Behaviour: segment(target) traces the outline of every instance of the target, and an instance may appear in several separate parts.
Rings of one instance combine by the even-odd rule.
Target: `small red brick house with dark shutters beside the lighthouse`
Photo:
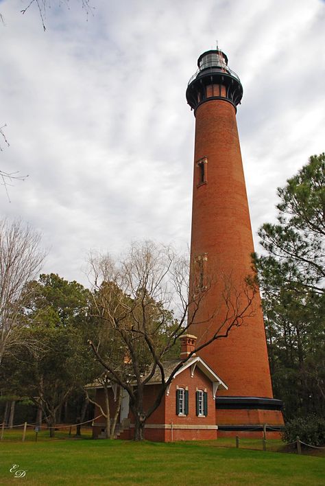
[[[193,349],[195,336],[182,336],[181,356],[184,358]],[[166,380],[182,359],[169,360],[164,363]],[[159,389],[159,371],[145,386],[145,402],[153,402]],[[104,390],[101,385],[93,384],[96,389],[96,402],[104,408]],[[217,439],[215,420],[215,395],[218,389],[227,390],[226,384],[208,367],[199,356],[190,358],[176,373],[165,391],[163,400],[154,413],[147,419],[144,437],[149,441],[180,441]],[[110,417],[115,413],[117,388],[109,390]],[[145,407],[147,408],[147,407]],[[95,417],[100,415],[95,408]],[[103,417],[93,422],[93,437],[105,435]],[[115,432],[119,439],[133,439],[134,417],[129,407],[129,395],[124,393],[119,413],[118,426]]]

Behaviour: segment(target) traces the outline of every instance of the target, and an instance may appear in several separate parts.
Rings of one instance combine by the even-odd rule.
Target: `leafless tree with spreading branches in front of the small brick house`
[[[159,406],[174,375],[193,354],[216,339],[226,338],[233,327],[254,314],[252,301],[256,293],[254,277],[235,288],[231,277],[202,277],[200,262],[197,277],[189,287],[189,265],[170,248],[153,242],[132,244],[130,252],[115,263],[106,256],[91,257],[93,285],[96,294],[97,317],[106,323],[111,338],[128,356],[128,373],[120,372],[116,361],[101,354],[89,341],[91,349],[110,373],[112,379],[130,395],[130,408],[135,419],[135,439],[143,439],[145,421]],[[213,312],[204,315],[199,310],[208,298],[210,289],[221,280],[223,291]],[[106,291],[100,292],[105,286]],[[201,317],[200,317],[201,316]],[[192,324],[211,323],[205,340],[178,360],[173,371],[165,376],[164,361],[186,334]],[[145,404],[145,385],[157,372],[160,387],[150,404]]]

